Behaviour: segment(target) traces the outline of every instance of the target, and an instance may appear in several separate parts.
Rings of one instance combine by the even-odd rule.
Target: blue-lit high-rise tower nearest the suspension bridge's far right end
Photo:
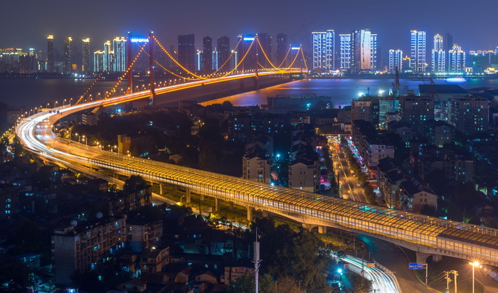
[[[334,30],[313,32],[313,70],[334,70]]]

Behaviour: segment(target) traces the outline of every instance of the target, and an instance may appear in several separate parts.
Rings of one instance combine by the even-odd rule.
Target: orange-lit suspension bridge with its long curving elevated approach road
[[[164,50],[164,47],[152,33],[149,36],[150,43],[157,43],[157,46]],[[154,105],[155,97],[166,92],[176,92],[243,78],[258,80],[260,76],[264,75],[300,75],[307,70],[301,48],[295,54],[290,65],[286,68],[280,68],[282,64],[278,67],[273,65],[263,48],[260,48],[258,38],[255,37],[248,49],[245,50],[243,58],[228,71],[221,73],[218,70],[210,75],[198,75],[184,68],[173,58],[172,60],[184,73],[179,75],[171,71],[170,74],[181,76],[181,82],[155,87],[153,66],[158,63],[152,59],[152,53],[150,53],[152,46],[149,45],[149,53],[145,53],[145,46],[141,46],[138,55],[143,53],[149,57],[150,75],[147,90],[133,91],[133,78],[130,72],[138,60],[138,57],[135,56],[129,63],[127,72],[102,99],[85,98],[88,97],[89,89],[73,105],[42,110],[19,119],[16,125],[16,135],[23,148],[46,161],[53,161],[70,168],[105,170],[112,174],[125,176],[139,175],[151,183],[159,184],[159,186],[176,186],[186,191],[186,201],[191,200],[191,193],[196,193],[201,196],[201,200],[205,196],[215,198],[216,208],[219,208],[220,201],[245,206],[248,211],[248,219],[251,219],[253,211],[258,209],[263,213],[277,213],[292,218],[307,228],[318,227],[320,232],[324,232],[327,227],[334,227],[371,235],[414,250],[417,252],[417,262],[425,262],[425,259],[430,255],[433,256],[434,260],[440,259],[442,255],[448,255],[472,261],[479,260],[481,263],[498,266],[497,229],[395,211],[366,203],[322,196],[317,193],[270,186],[233,176],[133,158],[102,151],[85,144],[75,142],[68,144],[65,139],[55,136],[52,129],[59,119],[82,110],[147,99],[151,105]],[[270,68],[263,68],[261,65],[258,60],[258,48],[268,64],[271,65]],[[167,51],[164,50],[164,52]],[[301,56],[301,61],[297,61],[298,55]],[[253,70],[241,69],[245,58],[253,58],[252,62],[255,65]],[[297,62],[300,63],[300,66],[296,68]],[[240,70],[238,70],[239,67]],[[126,75],[129,77],[127,92],[124,95],[116,95],[117,86],[125,80],[124,76]]]

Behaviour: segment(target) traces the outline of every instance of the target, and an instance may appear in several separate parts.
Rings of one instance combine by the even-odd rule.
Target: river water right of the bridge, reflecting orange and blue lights
[[[245,92],[240,95],[232,95],[208,102],[201,105],[221,104],[224,101],[230,101],[234,106],[252,106],[266,105],[267,97],[276,95],[304,96],[317,95],[332,97],[335,106],[351,105],[351,100],[359,97],[360,94],[378,95],[383,91],[383,95],[388,94],[394,80],[362,80],[362,79],[309,79],[288,82],[282,85],[267,87],[262,90]],[[429,81],[425,80],[425,84]],[[436,84],[450,84],[445,80],[435,80]],[[400,80],[401,92],[414,90],[418,92],[418,85],[424,84],[421,80]],[[459,83],[461,87],[470,89],[474,87],[498,87],[497,80],[467,80],[465,83]]]

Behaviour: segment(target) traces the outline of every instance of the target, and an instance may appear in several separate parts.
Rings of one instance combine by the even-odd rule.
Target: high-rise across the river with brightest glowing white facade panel
[[[353,31],[351,33],[351,71],[357,73],[363,70],[373,70],[373,63],[376,63],[376,47],[377,35],[372,35],[370,30]]]

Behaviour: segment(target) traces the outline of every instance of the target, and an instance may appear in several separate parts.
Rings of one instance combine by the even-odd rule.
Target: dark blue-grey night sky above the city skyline
[[[115,36],[147,36],[154,31],[166,48],[177,36],[228,36],[231,46],[240,33],[287,33],[292,45],[309,49],[312,31],[350,33],[370,28],[383,52],[401,48],[409,55],[410,30],[427,31],[428,50],[435,33],[451,33],[463,50],[494,50],[498,46],[496,0],[19,0],[2,1],[0,48],[46,50],[46,36],[90,38],[92,50]],[[336,41],[336,46],[339,42]]]

